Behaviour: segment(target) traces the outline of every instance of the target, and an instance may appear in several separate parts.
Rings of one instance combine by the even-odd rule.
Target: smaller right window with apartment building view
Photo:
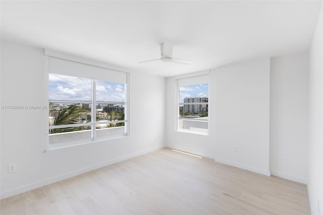
[[[177,80],[177,131],[208,134],[208,75]]]

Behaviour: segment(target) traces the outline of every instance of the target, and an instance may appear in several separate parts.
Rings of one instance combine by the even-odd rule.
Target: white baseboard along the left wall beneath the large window
[[[20,194],[20,193],[23,193],[23,192],[26,192],[26,191],[29,191],[29,190],[33,190],[33,189],[48,185],[48,184],[52,184],[52,183],[55,183],[55,182],[58,182],[58,181],[62,181],[64,179],[68,179],[68,178],[71,178],[73,176],[77,176],[77,175],[80,175],[80,174],[83,174],[83,173],[86,173],[86,172],[89,172],[89,171],[92,171],[92,170],[96,170],[98,168],[105,167],[107,165],[112,165],[112,164],[121,162],[123,160],[130,159],[132,157],[136,157],[136,156],[139,156],[139,155],[151,152],[151,151],[155,151],[155,150],[158,150],[158,149],[161,149],[161,148],[165,148],[165,145],[156,146],[156,147],[149,148],[149,149],[146,149],[146,150],[138,151],[138,152],[135,152],[135,153],[132,153],[132,154],[121,156],[121,157],[114,158],[114,159],[111,159],[111,160],[107,160],[106,162],[96,164],[96,165],[93,165],[93,166],[90,166],[90,167],[82,168],[82,169],[72,171],[72,172],[69,172],[69,173],[66,173],[66,174],[62,174],[62,175],[55,176],[55,177],[52,177],[52,178],[48,178],[48,179],[45,179],[45,180],[42,180],[42,181],[38,181],[38,182],[35,182],[35,183],[31,183],[31,184],[28,184],[28,185],[17,187],[17,188],[12,189],[12,190],[4,191],[4,192],[0,193],[0,199],[8,198],[10,196],[14,196],[14,195],[17,195],[17,194]]]

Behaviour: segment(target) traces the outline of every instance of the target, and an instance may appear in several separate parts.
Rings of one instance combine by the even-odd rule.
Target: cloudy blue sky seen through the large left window
[[[49,73],[49,100],[91,101],[91,80]],[[96,101],[125,101],[125,84],[97,80]]]

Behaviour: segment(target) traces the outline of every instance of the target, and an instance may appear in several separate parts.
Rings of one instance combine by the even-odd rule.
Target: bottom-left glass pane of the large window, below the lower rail
[[[91,126],[49,129],[49,144],[90,138]]]

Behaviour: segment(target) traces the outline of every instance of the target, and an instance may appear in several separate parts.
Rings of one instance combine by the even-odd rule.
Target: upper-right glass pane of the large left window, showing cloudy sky
[[[109,81],[96,81],[97,101],[126,101],[125,84]]]

